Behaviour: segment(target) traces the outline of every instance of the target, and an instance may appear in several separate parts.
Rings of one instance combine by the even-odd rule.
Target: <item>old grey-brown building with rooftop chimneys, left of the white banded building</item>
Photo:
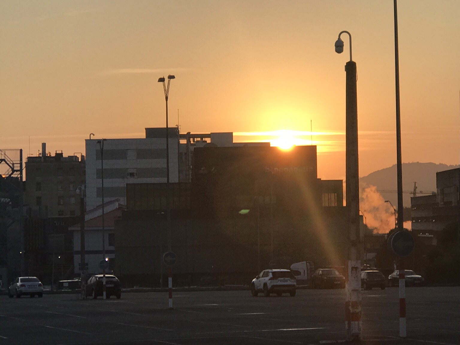
[[[37,157],[27,157],[24,207],[32,218],[74,217],[80,214],[76,190],[85,184],[85,156],[64,157],[46,153],[46,144]]]

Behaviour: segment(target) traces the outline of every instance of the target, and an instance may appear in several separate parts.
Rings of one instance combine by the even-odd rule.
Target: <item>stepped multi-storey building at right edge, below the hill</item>
[[[426,243],[436,244],[437,233],[459,221],[459,185],[458,168],[441,171],[436,173],[436,194],[411,198],[412,231]]]

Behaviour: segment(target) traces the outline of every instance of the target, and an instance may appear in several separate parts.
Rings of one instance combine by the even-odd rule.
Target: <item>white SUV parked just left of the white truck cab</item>
[[[259,292],[264,293],[265,297],[270,293],[276,293],[277,296],[289,293],[294,297],[295,287],[295,276],[290,270],[263,270],[251,282],[251,293],[254,297]]]

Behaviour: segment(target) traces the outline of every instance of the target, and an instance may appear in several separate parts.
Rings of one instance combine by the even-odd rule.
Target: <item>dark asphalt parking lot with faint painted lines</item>
[[[344,290],[296,297],[249,291],[0,296],[0,344],[326,344],[345,339]],[[408,288],[407,339],[399,334],[398,289],[363,291],[362,337],[369,344],[460,344],[460,288]]]

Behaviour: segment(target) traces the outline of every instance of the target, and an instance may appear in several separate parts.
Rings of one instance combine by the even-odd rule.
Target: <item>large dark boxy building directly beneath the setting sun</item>
[[[166,184],[127,184],[127,211],[115,221],[115,273],[127,284],[158,286],[166,274],[166,200]],[[304,260],[345,263],[342,181],[317,178],[316,146],[195,148],[191,183],[171,184],[168,200],[179,285],[247,283]]]

